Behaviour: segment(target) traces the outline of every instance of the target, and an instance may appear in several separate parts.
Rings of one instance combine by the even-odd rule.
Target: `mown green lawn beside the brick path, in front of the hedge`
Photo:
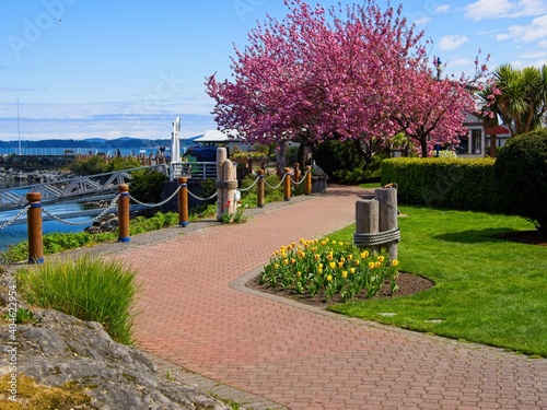
[[[349,316],[547,356],[547,248],[496,238],[516,216],[399,207],[400,270],[435,282],[412,296],[330,307]],[[329,235],[347,241],[354,226]],[[392,313],[395,316],[382,316]]]

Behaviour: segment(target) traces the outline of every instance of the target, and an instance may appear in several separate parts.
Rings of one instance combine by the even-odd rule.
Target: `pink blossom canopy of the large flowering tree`
[[[283,21],[269,17],[235,49],[233,81],[208,79],[219,128],[259,143],[354,140],[363,154],[400,131],[422,155],[433,138],[455,142],[470,99],[464,85],[434,81],[423,33],[407,24],[401,7],[286,5]]]

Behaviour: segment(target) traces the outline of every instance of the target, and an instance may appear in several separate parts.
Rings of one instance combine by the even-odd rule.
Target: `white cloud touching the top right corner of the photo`
[[[478,0],[465,7],[465,16],[475,22],[485,19],[515,19],[540,15],[546,9],[546,0]]]

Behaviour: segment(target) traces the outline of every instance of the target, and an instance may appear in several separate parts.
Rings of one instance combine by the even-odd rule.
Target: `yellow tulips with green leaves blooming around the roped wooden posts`
[[[342,302],[361,296],[371,298],[388,281],[397,290],[398,260],[334,242],[300,239],[274,251],[259,277],[260,284],[303,296],[339,295]]]

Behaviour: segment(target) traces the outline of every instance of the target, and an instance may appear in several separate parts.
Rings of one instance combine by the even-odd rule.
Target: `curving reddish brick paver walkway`
[[[290,409],[547,409],[547,360],[242,291],[280,245],[351,223],[357,192],[120,254],[142,283],[139,347]]]

